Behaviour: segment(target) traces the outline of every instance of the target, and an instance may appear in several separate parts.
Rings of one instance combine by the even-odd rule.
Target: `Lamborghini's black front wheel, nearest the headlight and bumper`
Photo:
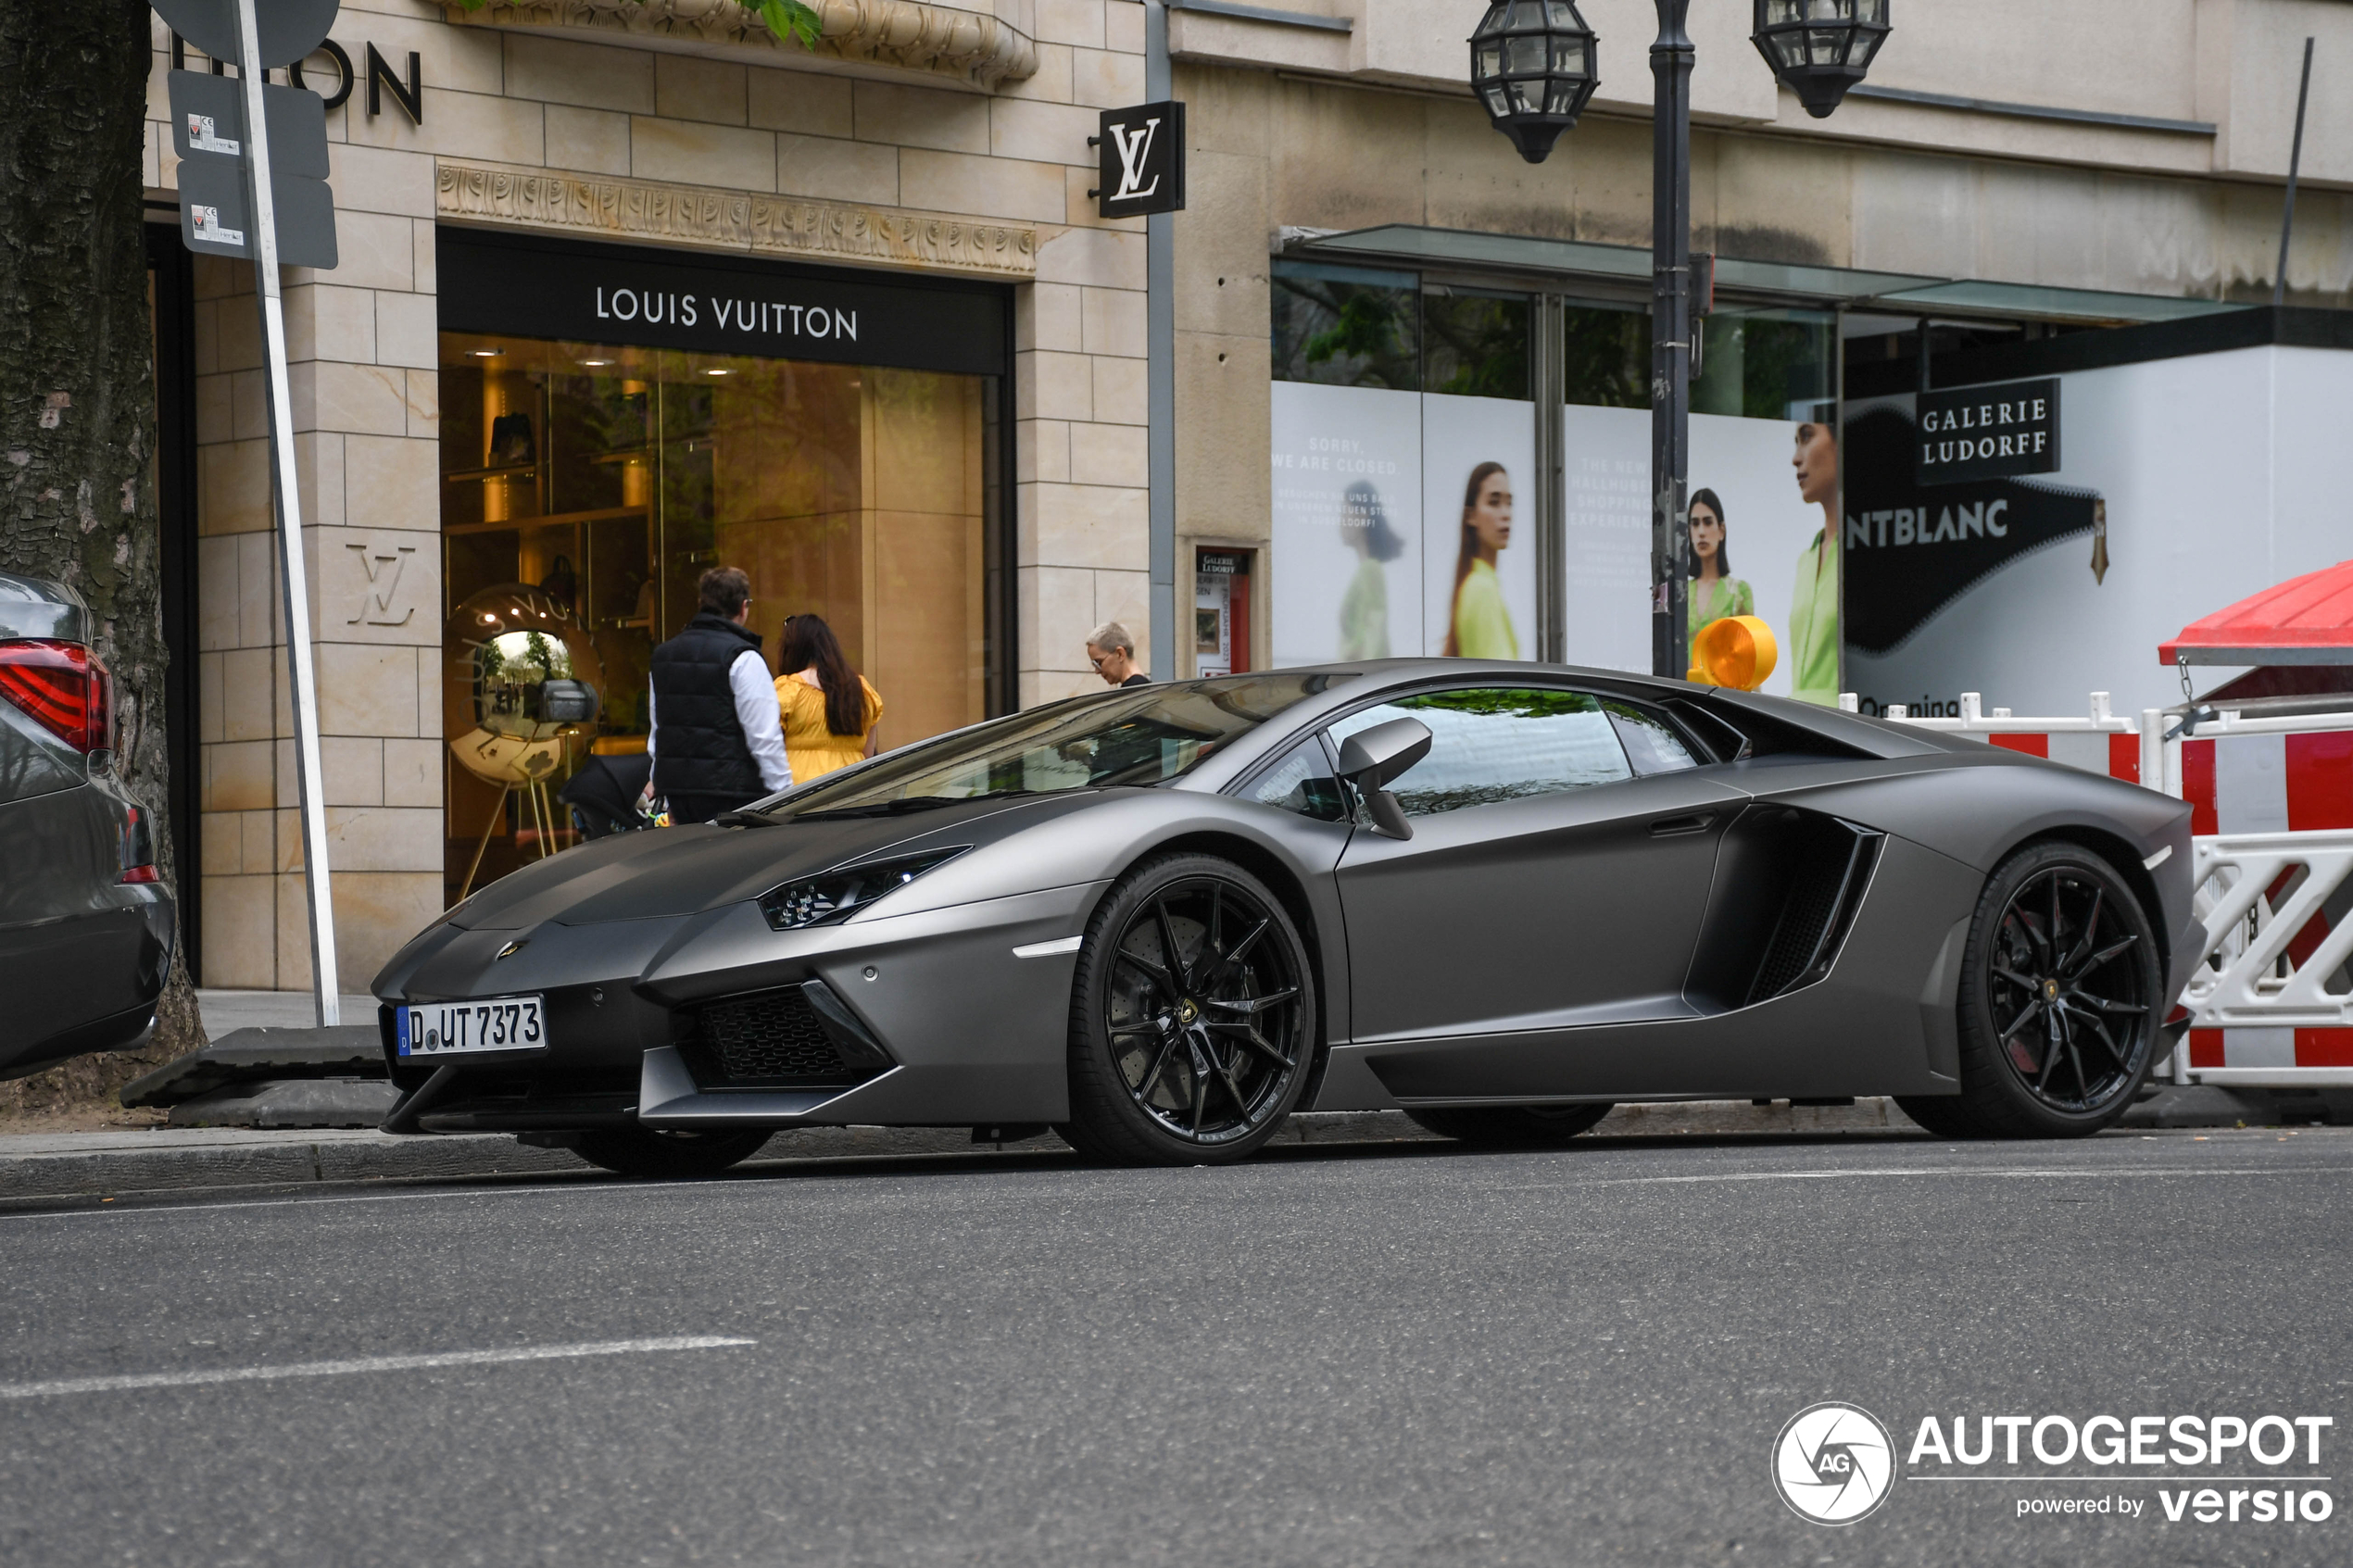
[[[1167,856],[1104,896],[1071,994],[1071,1126],[1120,1164],[1252,1154],[1297,1105],[1315,1044],[1306,945],[1264,882]]]

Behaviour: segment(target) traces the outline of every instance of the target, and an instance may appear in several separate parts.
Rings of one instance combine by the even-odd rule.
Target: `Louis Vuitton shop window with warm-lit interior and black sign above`
[[[885,698],[885,748],[1009,703],[1009,327],[988,284],[440,235],[452,900],[572,842],[511,783],[645,750],[647,656],[708,567],[751,574],[769,661],[786,616],[824,616]],[[473,689],[485,616],[518,602],[569,630],[600,698],[536,778]]]

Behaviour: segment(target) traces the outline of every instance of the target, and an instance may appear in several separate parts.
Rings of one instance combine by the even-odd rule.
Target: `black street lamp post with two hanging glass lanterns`
[[[1649,197],[1649,663],[1682,677],[1692,541],[1685,524],[1692,437],[1692,0],[1654,0]],[[1753,0],[1751,40],[1772,73],[1824,120],[1887,40],[1887,0]],[[1520,158],[1544,162],[1600,85],[1598,42],[1577,0],[1494,0],[1471,33],[1471,89]]]

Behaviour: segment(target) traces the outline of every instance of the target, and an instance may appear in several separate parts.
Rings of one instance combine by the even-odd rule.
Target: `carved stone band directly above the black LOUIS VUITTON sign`
[[[433,209],[442,219],[605,240],[725,247],[807,261],[887,261],[991,277],[1038,273],[1038,230],[1019,223],[452,158],[440,160]]]

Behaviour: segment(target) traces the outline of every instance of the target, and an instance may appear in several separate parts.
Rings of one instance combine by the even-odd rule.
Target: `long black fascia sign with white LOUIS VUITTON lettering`
[[[1002,376],[1002,284],[440,228],[442,331]]]

